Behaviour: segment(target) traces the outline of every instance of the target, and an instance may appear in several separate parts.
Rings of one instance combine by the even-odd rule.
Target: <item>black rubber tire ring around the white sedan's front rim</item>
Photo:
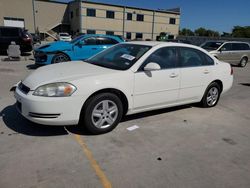
[[[111,126],[101,129],[95,127],[95,125],[92,123],[91,114],[94,107],[103,100],[111,100],[117,105],[118,116],[116,121]],[[85,126],[87,130],[92,134],[103,134],[112,131],[120,122],[122,115],[123,115],[123,107],[119,97],[112,93],[101,93],[91,97],[85,103],[83,110],[81,112],[81,117],[82,117],[81,124],[83,124],[83,126]]]

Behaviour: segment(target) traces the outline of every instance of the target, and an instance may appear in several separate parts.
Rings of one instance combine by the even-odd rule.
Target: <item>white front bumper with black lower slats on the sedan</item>
[[[25,94],[18,87],[14,93],[17,109],[25,118],[43,125],[78,124],[84,97],[39,97],[32,93]]]

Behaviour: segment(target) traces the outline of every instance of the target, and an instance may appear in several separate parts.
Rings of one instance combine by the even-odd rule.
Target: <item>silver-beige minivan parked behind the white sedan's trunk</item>
[[[240,67],[245,67],[250,58],[250,45],[246,42],[208,41],[201,47],[217,59]]]

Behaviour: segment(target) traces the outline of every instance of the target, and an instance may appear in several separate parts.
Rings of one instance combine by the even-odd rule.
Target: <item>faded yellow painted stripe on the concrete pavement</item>
[[[88,149],[86,143],[84,142],[83,138],[80,135],[74,134],[74,137],[76,141],[80,144],[82,147],[83,152],[87,156],[92,168],[95,170],[96,175],[102,182],[102,185],[104,188],[111,188],[112,185],[110,181],[108,180],[105,173],[102,171],[101,167],[98,165],[97,161],[94,159],[92,152]]]

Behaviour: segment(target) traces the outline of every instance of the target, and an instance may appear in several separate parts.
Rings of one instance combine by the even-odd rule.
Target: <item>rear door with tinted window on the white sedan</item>
[[[205,53],[188,47],[179,48],[179,100],[197,102],[213,78],[214,61]]]

